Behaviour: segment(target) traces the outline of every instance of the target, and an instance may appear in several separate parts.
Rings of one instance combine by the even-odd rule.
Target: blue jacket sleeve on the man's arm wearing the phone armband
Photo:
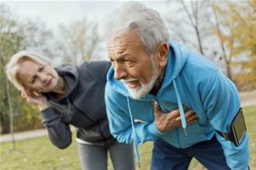
[[[215,72],[199,88],[203,107],[211,125],[217,130],[227,133],[233,117],[240,107],[240,99],[236,86],[222,72]],[[219,134],[218,141],[222,144],[227,165],[233,170],[247,169],[249,164],[248,135],[244,136],[241,144],[236,147]]]

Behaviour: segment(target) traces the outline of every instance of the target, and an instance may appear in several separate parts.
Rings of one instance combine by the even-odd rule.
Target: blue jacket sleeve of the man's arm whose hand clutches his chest
[[[132,123],[127,110],[127,98],[117,93],[106,85],[105,103],[107,108],[110,133],[117,139],[118,142],[132,143]],[[120,106],[119,104],[122,104]],[[157,129],[153,122],[135,122],[135,134],[138,144],[143,144],[146,141],[153,141],[162,133]]]

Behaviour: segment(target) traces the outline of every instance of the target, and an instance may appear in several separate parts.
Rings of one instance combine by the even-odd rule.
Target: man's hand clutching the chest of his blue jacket
[[[184,106],[184,109],[186,106]],[[197,115],[194,110],[189,109],[185,113],[185,118],[187,125],[191,123],[195,123]],[[181,126],[181,116],[179,114],[179,110],[175,109],[168,113],[162,113],[158,105],[154,105],[154,122],[157,125],[157,128],[161,132],[169,131],[173,128],[177,128]]]

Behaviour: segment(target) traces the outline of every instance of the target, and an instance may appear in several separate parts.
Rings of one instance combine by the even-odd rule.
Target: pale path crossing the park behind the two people
[[[256,90],[240,93],[241,106],[251,107],[256,105]],[[71,127],[72,131],[75,131],[75,127]],[[39,136],[46,136],[46,129],[39,129],[34,131],[17,132],[14,134],[15,140],[23,140],[29,138],[35,138]],[[0,142],[7,142],[12,140],[11,134],[4,134],[0,136]]]

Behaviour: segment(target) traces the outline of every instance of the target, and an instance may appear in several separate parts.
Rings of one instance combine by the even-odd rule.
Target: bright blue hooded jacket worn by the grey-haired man
[[[236,86],[206,57],[170,42],[165,77],[157,96],[147,94],[133,99],[121,81],[115,80],[110,68],[105,88],[105,103],[110,133],[118,142],[137,144],[154,141],[158,137],[178,148],[187,148],[211,139],[214,135],[222,144],[228,166],[233,170],[246,169],[249,164],[248,136],[236,147],[216,131],[229,131],[230,123],[240,107]],[[162,112],[180,109],[182,127],[166,133],[158,131],[154,123],[152,102],[157,101]],[[184,121],[182,104],[197,113],[197,122]],[[184,129],[187,129],[187,136]]]

